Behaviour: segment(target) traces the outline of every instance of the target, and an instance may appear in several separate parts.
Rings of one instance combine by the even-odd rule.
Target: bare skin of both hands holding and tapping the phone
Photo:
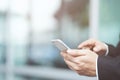
[[[96,60],[106,52],[104,43],[90,39],[81,43],[78,48],[61,52],[65,63],[70,69],[80,75],[96,76]]]

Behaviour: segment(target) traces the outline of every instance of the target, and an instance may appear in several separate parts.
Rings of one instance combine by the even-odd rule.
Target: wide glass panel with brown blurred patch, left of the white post
[[[63,0],[59,4],[58,2],[33,1],[28,65],[67,68],[59,50],[50,41],[60,38],[71,48],[76,48],[89,36],[89,1]]]

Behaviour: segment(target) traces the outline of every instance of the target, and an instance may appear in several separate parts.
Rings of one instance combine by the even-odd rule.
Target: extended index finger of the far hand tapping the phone
[[[78,48],[82,49],[82,48],[89,48],[91,49],[93,46],[95,45],[95,40],[94,39],[89,39],[86,40],[85,42],[81,43]]]

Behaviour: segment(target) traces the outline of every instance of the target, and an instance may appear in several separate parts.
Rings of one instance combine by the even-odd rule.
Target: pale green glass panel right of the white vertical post
[[[117,45],[120,35],[120,0],[100,0],[99,38]]]

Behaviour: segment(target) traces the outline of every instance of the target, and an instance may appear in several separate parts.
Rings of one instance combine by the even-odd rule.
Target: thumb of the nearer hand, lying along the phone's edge
[[[67,50],[67,53],[73,57],[84,56],[86,53],[84,50]]]

